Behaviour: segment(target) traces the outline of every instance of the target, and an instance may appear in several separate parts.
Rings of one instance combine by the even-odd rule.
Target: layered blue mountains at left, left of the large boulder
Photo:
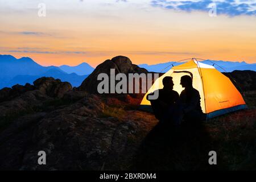
[[[84,69],[84,74],[83,74]],[[16,84],[32,84],[37,78],[47,76],[68,81],[72,86],[80,86],[82,81],[93,71],[87,63],[76,67],[63,65],[61,67],[43,67],[30,57],[16,59],[11,55],[0,55],[0,89]]]

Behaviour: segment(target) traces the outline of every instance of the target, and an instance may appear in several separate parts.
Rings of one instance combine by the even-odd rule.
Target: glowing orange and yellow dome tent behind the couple
[[[217,71],[212,65],[192,59],[187,63],[172,67],[170,71],[159,77],[143,97],[141,109],[152,110],[146,96],[157,89],[162,89],[162,80],[166,76],[172,77],[174,90],[180,94],[184,89],[180,85],[180,78],[184,75],[192,77],[193,88],[200,93],[201,108],[207,114],[208,119],[247,108],[240,92],[228,77]]]

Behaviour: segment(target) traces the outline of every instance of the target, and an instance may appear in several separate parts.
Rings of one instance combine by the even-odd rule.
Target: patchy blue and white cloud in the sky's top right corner
[[[151,1],[151,6],[162,7],[164,9],[180,10],[186,12],[205,11],[208,12],[211,7],[210,4],[216,3],[217,14],[226,14],[229,16],[238,15],[256,15],[255,0],[228,0],[228,1],[214,1],[214,0],[191,0],[191,1],[167,1],[154,0]]]

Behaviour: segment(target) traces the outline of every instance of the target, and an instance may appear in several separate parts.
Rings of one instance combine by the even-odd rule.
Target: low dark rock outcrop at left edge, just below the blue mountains
[[[14,85],[0,90],[0,118],[30,112],[46,102],[61,99],[72,90],[69,82],[61,82],[52,77],[42,77],[34,85]]]

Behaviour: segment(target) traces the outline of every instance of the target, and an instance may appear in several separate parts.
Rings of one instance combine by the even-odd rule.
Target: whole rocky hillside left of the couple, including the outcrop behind
[[[0,102],[0,169],[127,169],[156,123],[154,115],[125,109],[128,102],[70,90],[53,78],[39,78],[34,90],[16,88],[13,98],[13,89],[1,90],[10,100]],[[39,151],[46,166],[38,165]]]

